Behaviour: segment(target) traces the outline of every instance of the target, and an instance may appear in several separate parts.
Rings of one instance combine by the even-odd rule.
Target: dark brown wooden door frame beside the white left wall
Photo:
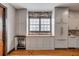
[[[0,3],[0,7],[3,8],[3,29],[2,29],[2,41],[3,41],[3,56],[7,55],[7,32],[6,32],[6,17],[7,17],[7,7]]]

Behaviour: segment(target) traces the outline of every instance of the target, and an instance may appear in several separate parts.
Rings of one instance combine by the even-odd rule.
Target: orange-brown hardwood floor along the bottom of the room
[[[16,50],[10,56],[79,56],[79,49],[63,50]]]

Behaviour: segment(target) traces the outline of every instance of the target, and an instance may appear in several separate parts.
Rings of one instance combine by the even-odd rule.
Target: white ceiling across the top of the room
[[[16,9],[26,8],[28,11],[52,11],[54,7],[68,7],[79,10],[79,3],[11,3]]]

